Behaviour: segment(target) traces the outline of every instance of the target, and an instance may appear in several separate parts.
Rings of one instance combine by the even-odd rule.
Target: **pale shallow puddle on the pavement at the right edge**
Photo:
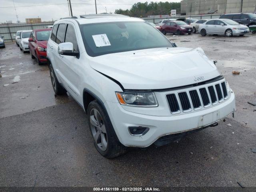
[[[237,60],[218,60],[217,66],[223,66],[224,68],[237,68],[242,70],[251,70],[255,68],[254,62],[237,61]]]

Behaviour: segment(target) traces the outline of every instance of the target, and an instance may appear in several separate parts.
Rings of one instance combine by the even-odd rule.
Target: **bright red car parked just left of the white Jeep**
[[[31,58],[36,58],[39,65],[47,62],[46,50],[47,41],[50,37],[52,29],[34,29],[28,39],[28,47]]]

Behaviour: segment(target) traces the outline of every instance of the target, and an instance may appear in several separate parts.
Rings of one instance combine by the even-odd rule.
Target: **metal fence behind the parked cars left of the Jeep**
[[[17,31],[20,30],[33,30],[46,28],[49,25],[53,25],[54,22],[43,22],[43,23],[33,23],[33,24],[3,24],[0,25],[0,35],[4,36],[4,40],[12,41],[15,40]]]

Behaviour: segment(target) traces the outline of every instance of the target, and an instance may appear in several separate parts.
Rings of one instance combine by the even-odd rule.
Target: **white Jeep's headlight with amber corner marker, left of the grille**
[[[158,106],[156,96],[153,92],[116,92],[116,96],[121,105],[138,107]]]

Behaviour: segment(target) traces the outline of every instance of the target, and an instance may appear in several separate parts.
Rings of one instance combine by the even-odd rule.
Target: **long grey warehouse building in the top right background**
[[[256,12],[256,0],[182,0],[182,15]]]

